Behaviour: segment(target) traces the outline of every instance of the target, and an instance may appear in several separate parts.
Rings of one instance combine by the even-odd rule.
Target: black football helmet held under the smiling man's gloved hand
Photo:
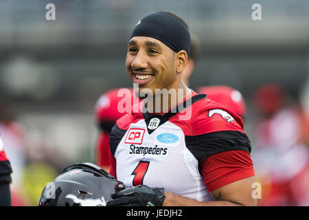
[[[106,206],[111,194],[124,188],[95,164],[73,164],[45,186],[38,206]]]

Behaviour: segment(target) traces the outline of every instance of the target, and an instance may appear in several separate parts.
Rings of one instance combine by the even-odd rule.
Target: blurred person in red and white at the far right
[[[254,94],[253,163],[262,181],[260,206],[309,206],[308,146],[299,104],[277,84]]]

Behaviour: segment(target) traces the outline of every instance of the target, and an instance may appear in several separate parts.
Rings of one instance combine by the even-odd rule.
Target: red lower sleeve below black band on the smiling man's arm
[[[238,181],[254,174],[253,163],[247,151],[225,151],[211,155],[204,160],[202,175],[209,192],[233,181]]]

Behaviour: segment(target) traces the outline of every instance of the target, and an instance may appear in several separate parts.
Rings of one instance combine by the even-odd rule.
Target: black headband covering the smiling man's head
[[[183,21],[163,12],[155,12],[141,19],[133,36],[149,36],[170,47],[174,52],[185,50],[190,55],[190,32]]]

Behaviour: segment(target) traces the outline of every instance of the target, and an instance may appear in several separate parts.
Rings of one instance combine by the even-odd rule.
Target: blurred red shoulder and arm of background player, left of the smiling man
[[[95,122],[98,137],[95,142],[95,164],[108,172],[109,133],[115,122],[130,112],[133,104],[138,103],[132,88],[116,88],[106,91],[95,104]],[[128,104],[128,106],[126,106]]]

